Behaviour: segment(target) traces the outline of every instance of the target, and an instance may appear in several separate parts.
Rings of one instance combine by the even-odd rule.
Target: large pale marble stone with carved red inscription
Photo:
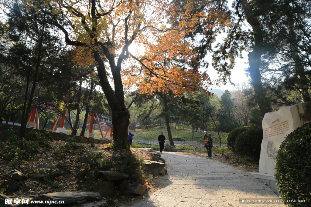
[[[275,173],[276,154],[286,135],[309,121],[311,121],[311,102],[283,106],[277,111],[265,114],[262,120],[260,173]]]

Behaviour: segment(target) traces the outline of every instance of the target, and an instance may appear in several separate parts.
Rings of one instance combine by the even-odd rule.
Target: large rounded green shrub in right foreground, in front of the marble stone
[[[282,199],[304,200],[285,204],[292,207],[311,206],[311,122],[285,137],[276,155],[275,169]]]

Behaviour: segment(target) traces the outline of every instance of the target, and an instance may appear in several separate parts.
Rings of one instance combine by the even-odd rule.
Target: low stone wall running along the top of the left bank
[[[11,124],[0,123],[0,140],[1,141],[6,141],[6,140],[9,139],[8,130],[11,127],[13,127],[13,130],[14,130],[15,134],[19,135],[21,127],[16,126],[16,125],[11,125]],[[29,133],[30,130],[31,130],[31,128],[26,128],[25,137],[27,137],[27,134]],[[76,142],[81,142],[81,143],[94,143],[95,140],[99,144],[109,144],[109,143],[111,143],[111,141],[105,141],[105,140],[100,140],[100,139],[93,139],[93,138],[88,138],[88,137],[80,137],[80,136],[75,136],[75,135],[71,135],[71,134],[62,134],[62,133],[56,133],[56,132],[49,132],[49,131],[39,130],[39,129],[33,129],[33,130],[35,130],[35,132],[41,133],[43,136],[45,136],[47,133],[49,133],[49,136],[51,136],[52,139],[54,139],[54,140],[66,141],[66,139],[70,137],[70,138],[74,138],[76,140]]]

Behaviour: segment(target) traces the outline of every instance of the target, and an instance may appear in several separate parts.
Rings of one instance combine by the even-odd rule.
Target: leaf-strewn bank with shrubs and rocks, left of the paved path
[[[157,152],[117,151],[112,145],[81,144],[72,138],[50,141],[36,132],[30,136],[33,141],[20,140],[12,132],[8,141],[0,142],[0,207],[10,206],[6,199],[12,206],[53,206],[58,200],[64,200],[62,206],[119,205],[146,189],[154,191],[152,180],[166,172]],[[55,202],[22,205],[23,199]]]

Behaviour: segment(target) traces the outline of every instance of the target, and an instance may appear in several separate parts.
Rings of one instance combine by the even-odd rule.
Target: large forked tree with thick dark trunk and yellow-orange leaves
[[[83,0],[65,2],[57,0],[49,2],[38,0],[32,1],[31,4],[25,3],[25,5],[34,7],[39,14],[44,13],[51,16],[49,24],[63,31],[65,42],[68,45],[80,48],[80,55],[87,57],[91,63],[96,65],[101,87],[112,110],[114,144],[116,147],[129,149],[127,137],[129,112],[124,104],[122,64],[131,56],[133,60],[145,65],[142,59],[129,52],[129,46],[134,41],[137,44],[144,45],[150,42],[150,38],[160,39],[161,37],[166,43],[170,43],[170,40],[174,40],[172,38],[180,39],[180,36],[183,37],[185,33],[191,32],[190,26],[183,24],[174,28],[167,27],[165,24],[167,9],[174,8],[169,1],[120,0],[102,2],[100,0]],[[49,11],[46,11],[47,9]],[[200,17],[193,17],[192,19],[194,21]],[[187,24],[190,25],[191,22],[188,21]],[[172,35],[175,36],[165,39],[165,37]],[[160,47],[157,48],[161,50]],[[144,61],[154,61],[155,54],[158,52],[153,51],[152,56],[145,57]],[[192,50],[183,51],[184,54],[188,52],[192,52]],[[107,69],[111,70],[114,87],[109,83]],[[157,74],[159,78],[168,79],[183,87],[183,84],[179,83],[178,80],[171,79],[178,79],[183,74],[178,75],[176,72],[175,77],[166,76],[164,73],[158,73],[153,69],[149,70],[149,73]],[[186,71],[183,73],[189,74]],[[197,73],[198,71],[193,73],[194,81],[196,81]]]

